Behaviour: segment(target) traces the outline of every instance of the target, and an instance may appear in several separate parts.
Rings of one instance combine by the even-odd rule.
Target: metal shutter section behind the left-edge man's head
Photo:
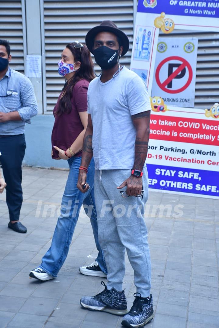
[[[24,73],[26,56],[25,4],[23,0],[0,1],[0,38],[11,45],[10,67]]]

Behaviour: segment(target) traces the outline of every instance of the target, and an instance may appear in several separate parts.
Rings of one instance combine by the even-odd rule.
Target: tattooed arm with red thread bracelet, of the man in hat
[[[92,148],[92,138],[93,138],[93,124],[91,119],[91,114],[88,114],[88,124],[87,129],[84,134],[83,140],[83,149],[82,149],[82,158],[80,166],[88,168],[90,161],[93,157],[93,148]],[[84,170],[79,170],[77,188],[82,192],[86,193],[89,189],[89,185],[86,184],[86,187],[83,189],[84,184],[86,183],[87,174]]]

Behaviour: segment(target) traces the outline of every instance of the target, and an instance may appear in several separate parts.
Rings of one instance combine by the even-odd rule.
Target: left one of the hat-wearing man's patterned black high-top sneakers
[[[122,292],[118,292],[115,288],[108,290],[103,281],[101,284],[105,286],[105,289],[96,296],[81,297],[81,306],[90,311],[102,311],[124,316],[128,312],[124,290]]]

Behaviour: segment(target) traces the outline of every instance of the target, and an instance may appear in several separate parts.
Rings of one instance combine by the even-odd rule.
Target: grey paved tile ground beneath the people
[[[90,264],[97,255],[83,211],[57,279],[40,282],[28,277],[50,246],[67,174],[23,169],[25,235],[7,228],[5,193],[0,196],[0,328],[121,327],[120,317],[86,311],[79,305],[81,296],[102,290],[102,278],[78,272],[79,266]],[[219,327],[218,201],[150,192],[146,212],[156,310],[146,327]],[[128,260],[124,287],[130,308],[135,286]]]

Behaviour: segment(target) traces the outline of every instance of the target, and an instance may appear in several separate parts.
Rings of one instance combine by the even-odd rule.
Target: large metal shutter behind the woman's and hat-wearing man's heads
[[[71,41],[85,42],[87,31],[103,20],[114,21],[128,35],[130,50],[120,62],[129,67],[133,41],[133,0],[41,0],[41,11],[44,22],[42,40],[45,38],[42,42],[42,52],[45,53],[43,72],[46,72],[44,113],[51,113],[64,84],[64,79],[57,73],[61,51]]]

